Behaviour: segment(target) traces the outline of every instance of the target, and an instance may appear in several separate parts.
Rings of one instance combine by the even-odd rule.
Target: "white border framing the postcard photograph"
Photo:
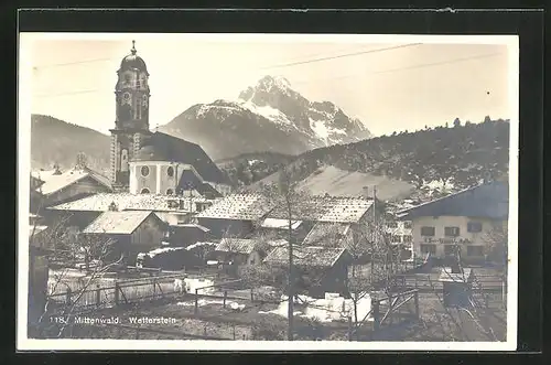
[[[341,42],[504,44],[509,51],[509,271],[506,342],[335,342],[335,341],[161,341],[161,340],[33,340],[26,337],[29,245],[18,245],[17,348],[18,351],[514,351],[517,347],[518,283],[518,149],[519,149],[519,44],[516,35],[367,35],[367,34],[175,34],[175,33],[20,33],[18,100],[18,243],[29,240],[29,173],[31,137],[30,49],[36,40],[187,39],[231,42]]]

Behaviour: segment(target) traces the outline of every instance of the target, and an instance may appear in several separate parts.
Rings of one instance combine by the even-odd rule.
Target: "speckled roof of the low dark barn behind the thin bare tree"
[[[295,246],[293,248],[293,264],[302,267],[333,267],[346,253],[344,248]],[[268,254],[263,262],[289,265],[289,248],[287,246],[276,247]]]

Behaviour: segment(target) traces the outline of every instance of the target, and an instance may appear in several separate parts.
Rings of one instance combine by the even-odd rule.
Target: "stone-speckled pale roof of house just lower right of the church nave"
[[[257,221],[266,216],[272,206],[261,194],[231,194],[197,214],[197,218]]]

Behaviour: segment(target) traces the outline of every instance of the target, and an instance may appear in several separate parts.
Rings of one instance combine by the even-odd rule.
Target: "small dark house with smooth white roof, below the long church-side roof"
[[[82,235],[89,239],[112,239],[107,261],[123,256],[125,264],[134,265],[139,253],[160,247],[168,225],[153,212],[105,212],[87,226]]]

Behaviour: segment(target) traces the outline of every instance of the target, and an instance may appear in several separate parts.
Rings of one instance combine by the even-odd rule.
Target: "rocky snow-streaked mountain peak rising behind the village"
[[[262,77],[235,100],[194,105],[160,130],[202,144],[214,159],[295,154],[371,137],[361,121],[333,103],[307,100],[281,76]]]

